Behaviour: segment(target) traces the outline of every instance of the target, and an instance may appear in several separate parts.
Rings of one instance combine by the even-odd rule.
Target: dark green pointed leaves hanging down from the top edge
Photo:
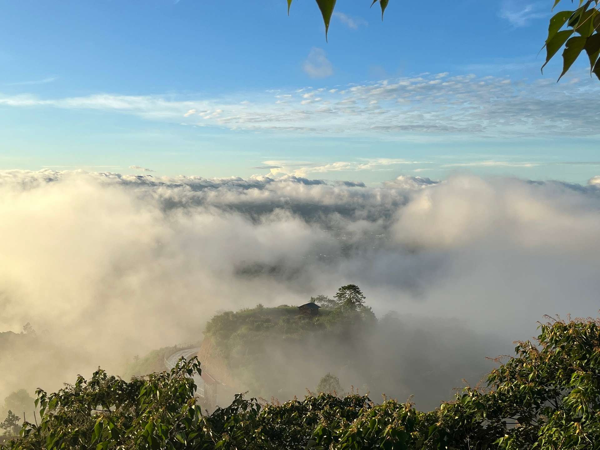
[[[329,32],[329,23],[334,12],[336,0],[316,0],[317,6],[325,23],[325,39]],[[562,0],[554,0],[552,9],[556,8]],[[574,0],[571,0],[571,4]],[[379,3],[381,17],[388,7],[389,0],[373,0],[371,7]],[[548,25],[548,37],[544,47],[546,61],[544,67],[564,47],[563,70],[559,80],[569,71],[575,60],[586,53],[590,60],[590,74],[594,73],[600,79],[600,0],[579,0],[579,7],[575,10],[564,10],[554,14]],[[287,13],[290,13],[292,0],[287,0]]]

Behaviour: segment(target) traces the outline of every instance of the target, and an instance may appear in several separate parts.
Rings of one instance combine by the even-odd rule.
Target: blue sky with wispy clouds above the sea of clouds
[[[550,0],[369,3],[326,42],[312,0],[4,2],[0,169],[600,174],[600,82],[539,71]]]

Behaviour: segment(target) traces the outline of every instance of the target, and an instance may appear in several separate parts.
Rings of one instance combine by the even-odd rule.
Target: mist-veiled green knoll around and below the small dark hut
[[[364,304],[328,301],[317,316],[305,316],[289,305],[218,314],[205,329],[205,339],[215,344],[211,358],[224,361],[239,391],[257,397],[287,400],[303,395],[328,371],[367,389],[368,370],[358,370],[358,375],[349,361],[367,353],[377,319]],[[210,372],[211,366],[206,367]]]

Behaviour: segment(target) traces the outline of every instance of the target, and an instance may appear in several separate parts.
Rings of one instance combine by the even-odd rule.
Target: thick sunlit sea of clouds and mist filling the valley
[[[347,283],[378,316],[397,311],[427,329],[423,348],[398,352],[443,347],[457,361],[510,352],[544,314],[595,316],[600,305],[598,177],[400,176],[373,187],[10,170],[0,218],[0,331],[30,322],[78,353],[62,371],[43,359],[2,365],[0,391],[55,388],[196,340],[216,311],[301,304]],[[471,355],[466,335],[494,344]]]

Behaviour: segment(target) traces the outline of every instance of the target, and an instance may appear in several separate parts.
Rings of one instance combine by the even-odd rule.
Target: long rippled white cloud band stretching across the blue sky
[[[600,86],[589,74],[557,89],[553,79],[529,82],[440,73],[344,86],[233,93],[221,98],[0,94],[0,107],[102,110],[235,131],[448,142],[595,137],[599,134],[598,112],[589,99],[599,94]]]

